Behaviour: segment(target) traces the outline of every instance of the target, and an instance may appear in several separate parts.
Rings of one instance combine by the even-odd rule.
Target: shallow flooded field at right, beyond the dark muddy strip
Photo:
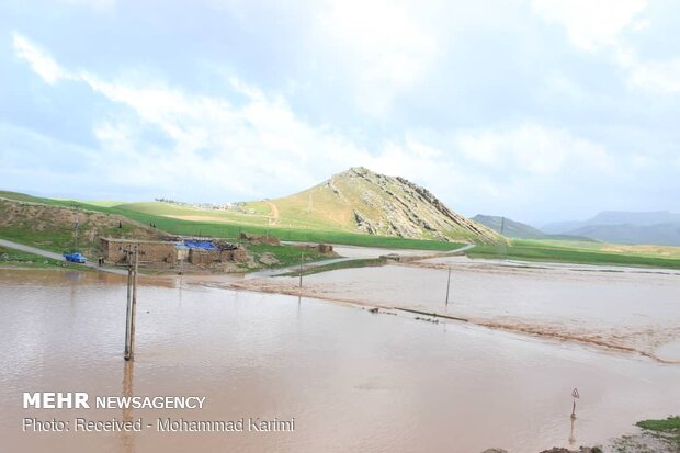
[[[296,278],[276,278],[234,286],[297,294],[297,284]],[[303,294],[460,316],[487,327],[680,363],[677,272],[432,258],[308,275]]]

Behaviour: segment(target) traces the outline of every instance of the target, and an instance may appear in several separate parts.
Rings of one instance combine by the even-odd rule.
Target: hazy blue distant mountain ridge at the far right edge
[[[543,229],[605,242],[680,246],[680,214],[668,211],[605,211],[588,220],[555,223]]]

